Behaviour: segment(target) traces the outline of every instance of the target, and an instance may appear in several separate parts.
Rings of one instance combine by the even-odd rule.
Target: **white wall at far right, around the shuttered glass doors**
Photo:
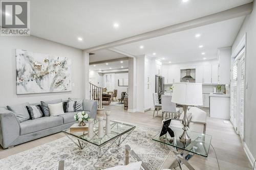
[[[243,26],[233,43],[232,52],[236,49],[242,37],[247,33],[246,40],[246,82],[248,88],[245,91],[245,143],[254,159],[256,158],[256,4],[253,3],[253,11],[246,16]]]

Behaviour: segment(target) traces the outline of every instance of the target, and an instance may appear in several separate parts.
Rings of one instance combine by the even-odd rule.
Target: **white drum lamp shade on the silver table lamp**
[[[175,83],[173,103],[187,106],[203,105],[203,90],[201,83]]]

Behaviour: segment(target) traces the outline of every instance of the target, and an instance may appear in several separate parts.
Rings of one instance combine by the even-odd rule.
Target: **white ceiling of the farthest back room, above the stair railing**
[[[114,62],[108,62],[108,65],[106,63],[99,63],[99,64],[92,64],[89,66],[90,70],[111,70],[111,69],[122,69],[128,68],[128,60],[123,60],[123,63],[121,61],[114,61]]]

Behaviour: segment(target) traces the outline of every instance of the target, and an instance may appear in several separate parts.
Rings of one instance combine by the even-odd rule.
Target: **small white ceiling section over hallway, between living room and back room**
[[[110,50],[99,50],[99,51],[95,51],[93,53],[94,53],[94,55],[90,55],[90,58],[89,58],[90,63],[126,57],[120,53],[116,53],[116,52],[113,52]]]

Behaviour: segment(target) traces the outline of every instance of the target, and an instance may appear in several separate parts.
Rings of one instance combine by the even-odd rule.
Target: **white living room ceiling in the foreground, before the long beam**
[[[33,0],[31,34],[80,49],[224,11],[253,0]],[[119,23],[114,29],[113,23]],[[79,42],[78,37],[83,41]]]

